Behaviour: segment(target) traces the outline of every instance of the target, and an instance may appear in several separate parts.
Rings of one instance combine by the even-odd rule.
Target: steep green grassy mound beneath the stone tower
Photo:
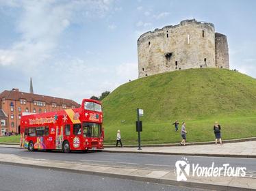
[[[177,143],[170,123],[185,121],[188,141],[213,141],[214,121],[222,138],[256,136],[256,80],[214,68],[167,72],[121,85],[103,100],[105,143],[120,129],[126,144],[136,144],[136,108],[144,109],[142,143]],[[125,122],[121,122],[125,120]]]

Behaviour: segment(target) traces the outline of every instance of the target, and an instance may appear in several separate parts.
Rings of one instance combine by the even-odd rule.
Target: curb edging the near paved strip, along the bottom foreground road
[[[147,181],[152,183],[164,183],[168,185],[175,185],[175,186],[186,186],[192,188],[205,188],[211,190],[242,190],[248,191],[252,190],[251,188],[241,188],[235,186],[223,186],[223,185],[215,185],[211,183],[200,183],[200,182],[190,182],[190,181],[175,181],[170,179],[159,179],[159,178],[152,178],[152,177],[138,177],[133,175],[118,175],[112,173],[103,173],[103,172],[92,172],[92,171],[79,171],[76,169],[70,168],[61,168],[61,167],[54,167],[54,166],[43,166],[43,165],[36,165],[36,164],[23,164],[23,163],[16,163],[16,162],[3,162],[0,161],[0,164],[8,164],[14,166],[24,166],[24,167],[32,167],[32,168],[40,168],[40,169],[51,169],[55,171],[64,171],[64,172],[71,172],[71,173],[80,173],[86,175],[97,175],[97,176],[105,176],[105,177],[112,177],[112,178],[119,178],[119,179],[129,179],[135,181]]]

